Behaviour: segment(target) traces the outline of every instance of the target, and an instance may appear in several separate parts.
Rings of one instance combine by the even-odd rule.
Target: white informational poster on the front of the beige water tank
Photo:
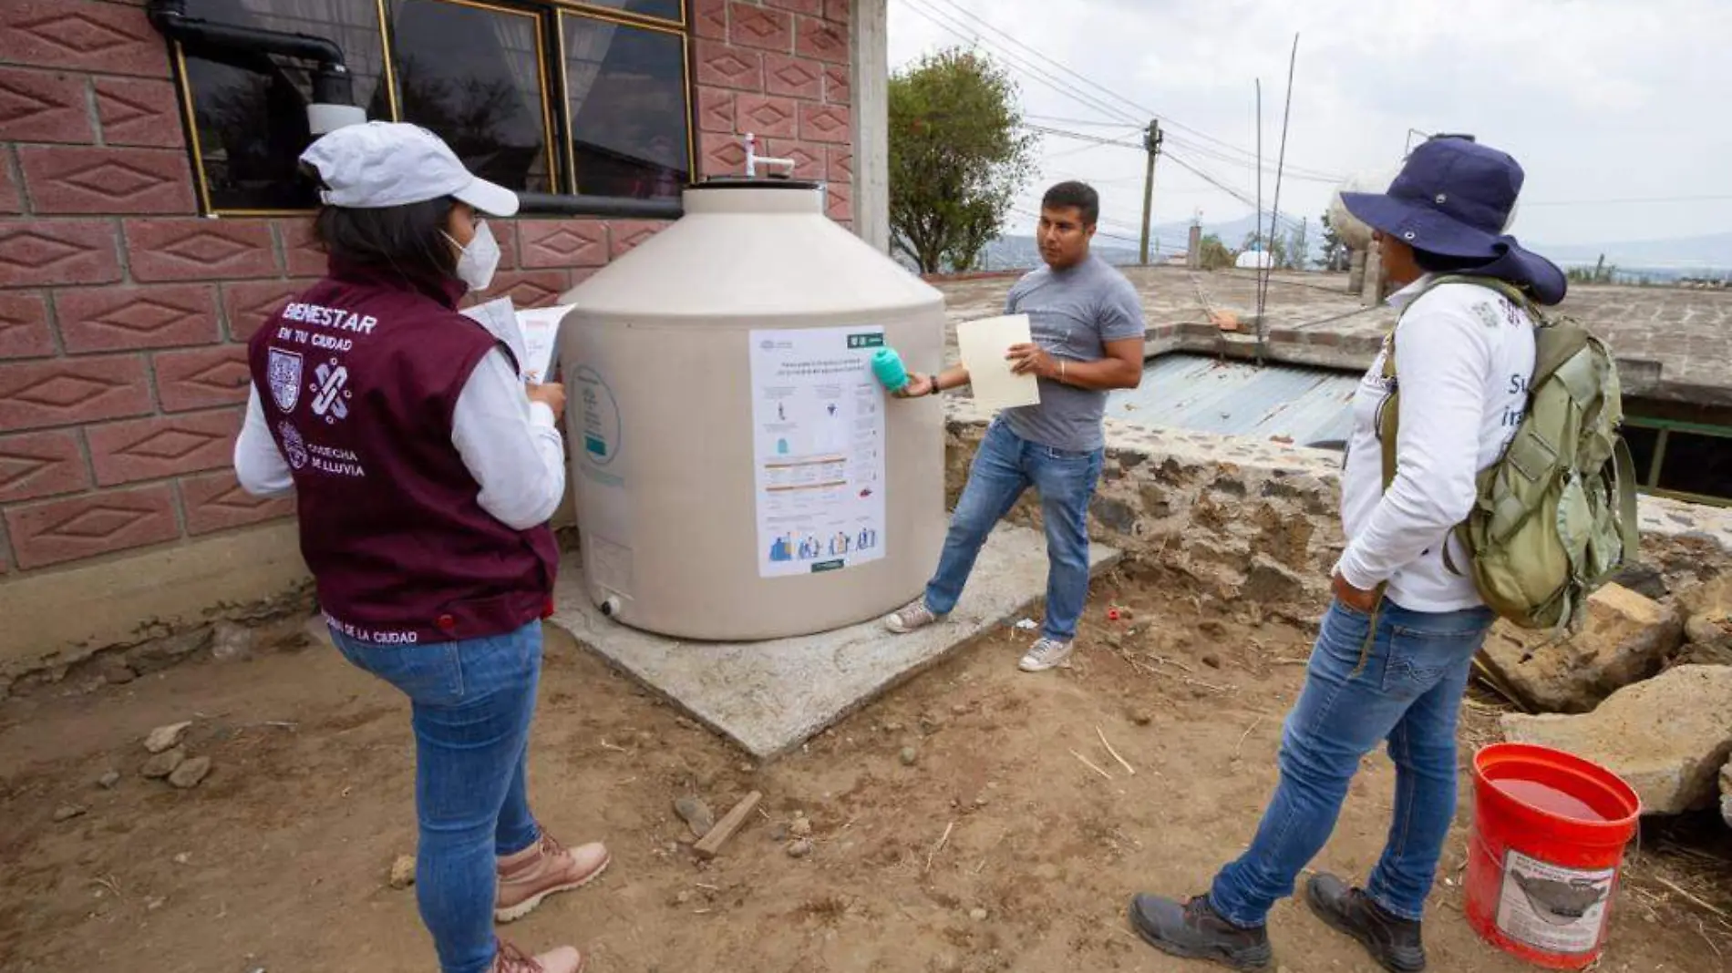
[[[752,331],[759,577],[883,557],[883,327]]]

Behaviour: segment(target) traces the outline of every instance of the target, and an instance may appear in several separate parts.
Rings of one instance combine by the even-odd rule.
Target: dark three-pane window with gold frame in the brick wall
[[[187,12],[329,38],[367,118],[424,125],[516,190],[648,199],[677,196],[691,173],[682,0],[189,0]],[[204,208],[317,206],[296,171],[312,140],[307,69],[182,54]]]

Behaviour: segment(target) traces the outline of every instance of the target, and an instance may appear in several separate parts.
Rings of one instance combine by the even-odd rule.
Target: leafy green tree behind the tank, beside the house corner
[[[890,78],[890,239],[923,274],[965,270],[1034,173],[1017,85],[951,48]]]

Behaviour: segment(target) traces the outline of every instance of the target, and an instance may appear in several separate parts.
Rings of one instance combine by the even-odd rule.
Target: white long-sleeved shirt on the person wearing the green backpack
[[[1450,530],[1467,519],[1476,476],[1503,454],[1528,407],[1535,339],[1528,313],[1490,287],[1420,279],[1389,298],[1401,386],[1396,478],[1384,492],[1377,412],[1389,396],[1384,355],[1353,396],[1353,436],[1341,490],[1347,549],[1335,568],[1356,589],[1387,582],[1412,611],[1483,604],[1469,577],[1448,570],[1467,556]],[[1420,293],[1424,291],[1424,296]],[[1417,298],[1417,300],[1415,300]]]

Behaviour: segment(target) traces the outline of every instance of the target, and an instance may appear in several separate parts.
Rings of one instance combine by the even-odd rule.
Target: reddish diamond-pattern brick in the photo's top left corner
[[[19,64],[168,76],[168,43],[151,29],[142,7],[7,0],[0,3],[0,50]]]

